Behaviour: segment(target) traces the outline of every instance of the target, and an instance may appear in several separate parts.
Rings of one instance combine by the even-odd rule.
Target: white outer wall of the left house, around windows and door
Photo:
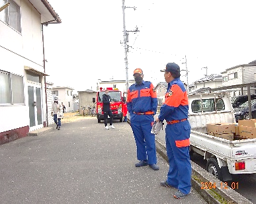
[[[15,0],[21,6],[21,33],[0,20],[0,56],[3,71],[20,75],[24,81],[24,105],[0,104],[0,136],[2,132],[28,127],[28,83],[24,66],[44,72],[40,14],[27,0]],[[43,123],[46,121],[44,78],[41,83]]]

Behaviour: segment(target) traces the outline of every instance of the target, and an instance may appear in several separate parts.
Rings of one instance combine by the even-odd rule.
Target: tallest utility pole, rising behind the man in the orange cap
[[[128,46],[127,46],[127,42],[128,42],[128,32],[139,32],[138,28],[136,28],[136,30],[126,30],[126,26],[125,26],[125,13],[124,13],[124,9],[126,8],[132,8],[134,9],[134,11],[136,10],[136,7],[126,7],[124,6],[124,0],[122,0],[122,22],[123,22],[123,28],[124,28],[124,65],[125,65],[125,69],[126,69],[126,85],[125,85],[125,90],[124,93],[127,94],[128,92],[128,88],[129,88],[129,81],[128,81],[128,56],[127,56],[127,52],[128,52]]]

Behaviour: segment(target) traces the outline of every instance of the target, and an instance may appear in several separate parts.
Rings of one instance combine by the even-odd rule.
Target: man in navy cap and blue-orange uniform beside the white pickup
[[[165,128],[166,151],[169,159],[167,180],[161,186],[175,187],[175,198],[188,195],[191,191],[191,160],[189,157],[189,137],[191,125],[188,121],[189,100],[187,90],[183,85],[179,65],[167,63],[165,81],[168,83],[165,103],[155,121],[167,121]]]

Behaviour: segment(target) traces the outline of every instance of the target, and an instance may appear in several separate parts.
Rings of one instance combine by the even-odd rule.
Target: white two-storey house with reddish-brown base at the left
[[[0,144],[47,125],[43,27],[62,22],[46,0],[8,2],[0,11]]]

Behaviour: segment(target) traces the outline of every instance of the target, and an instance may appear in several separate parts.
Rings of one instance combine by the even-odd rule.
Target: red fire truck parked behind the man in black
[[[124,102],[126,101],[126,97],[122,96],[122,92],[118,90],[118,88],[106,88],[109,90],[108,95],[110,96],[113,103],[110,103],[110,108],[112,110],[112,114],[114,116],[113,119],[119,119],[120,122],[122,122],[122,116],[123,116],[123,107]],[[101,122],[101,120],[104,119],[104,113],[103,113],[103,94],[105,94],[105,89],[101,87],[100,90],[97,92],[96,100],[93,98],[93,103],[96,102],[96,113],[97,113],[97,119],[98,123]]]

